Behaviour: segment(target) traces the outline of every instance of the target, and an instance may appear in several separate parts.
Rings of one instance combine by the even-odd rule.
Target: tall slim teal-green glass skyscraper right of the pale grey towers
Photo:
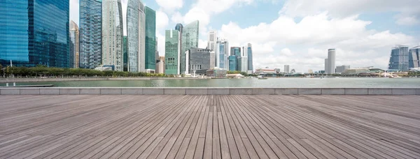
[[[146,6],[146,61],[145,69],[148,73],[156,70],[156,11]]]

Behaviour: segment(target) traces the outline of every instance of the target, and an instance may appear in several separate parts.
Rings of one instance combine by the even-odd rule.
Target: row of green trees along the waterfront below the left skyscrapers
[[[164,74],[155,73],[129,73],[112,70],[99,71],[83,68],[48,68],[45,66],[32,68],[9,66],[3,71],[7,77],[166,77]]]

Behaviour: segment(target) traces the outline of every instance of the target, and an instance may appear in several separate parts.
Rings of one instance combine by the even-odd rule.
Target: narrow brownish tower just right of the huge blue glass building
[[[78,26],[73,20],[70,22],[70,67],[78,68],[79,61],[79,29]]]

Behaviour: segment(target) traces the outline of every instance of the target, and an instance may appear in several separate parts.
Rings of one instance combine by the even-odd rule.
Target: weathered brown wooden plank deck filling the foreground
[[[0,96],[0,158],[420,158],[420,98]]]

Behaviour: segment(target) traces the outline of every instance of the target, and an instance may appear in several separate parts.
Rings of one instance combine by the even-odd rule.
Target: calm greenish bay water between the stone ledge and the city
[[[61,87],[420,88],[420,78],[155,79],[17,83],[37,84]]]

